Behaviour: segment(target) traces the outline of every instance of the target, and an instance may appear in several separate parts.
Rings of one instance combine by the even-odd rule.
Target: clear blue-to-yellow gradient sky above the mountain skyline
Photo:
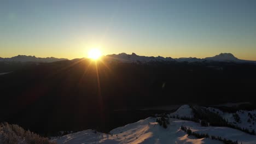
[[[103,55],[256,60],[256,1],[1,0],[0,57]]]

